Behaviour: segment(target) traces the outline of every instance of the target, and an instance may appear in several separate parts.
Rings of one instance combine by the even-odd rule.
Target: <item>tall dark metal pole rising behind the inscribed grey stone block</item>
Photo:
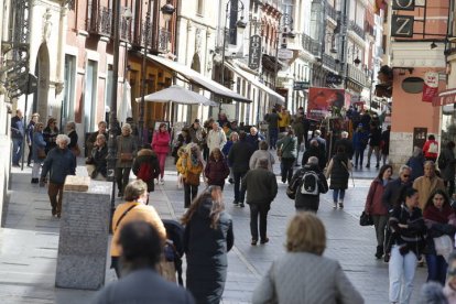
[[[119,48],[120,48],[120,36],[119,36],[119,18],[120,18],[120,1],[113,1],[113,59],[112,59],[112,91],[111,91],[111,106],[109,113],[109,140],[108,140],[108,178],[112,182],[111,189],[111,221],[112,215],[116,209],[116,161],[117,161],[117,142],[116,137],[119,133],[119,121],[117,120],[117,94],[118,94],[118,79],[119,79]],[[111,228],[112,225],[109,225]]]

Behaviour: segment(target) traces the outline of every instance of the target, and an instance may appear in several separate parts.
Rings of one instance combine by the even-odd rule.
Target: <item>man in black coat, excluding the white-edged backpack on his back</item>
[[[308,195],[301,193],[302,178],[304,174],[308,171],[313,171],[318,175],[318,195]],[[328,192],[328,182],[318,166],[317,158],[308,158],[307,163],[301,170],[294,173],[287,189],[287,193],[289,192],[295,195],[294,207],[296,208],[296,211],[318,211],[319,194]]]

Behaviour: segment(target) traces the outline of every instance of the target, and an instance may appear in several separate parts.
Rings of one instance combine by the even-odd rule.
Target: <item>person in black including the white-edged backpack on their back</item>
[[[311,156],[293,175],[286,194],[294,199],[296,211],[318,211],[319,194],[328,192],[328,182],[318,166],[318,159]]]

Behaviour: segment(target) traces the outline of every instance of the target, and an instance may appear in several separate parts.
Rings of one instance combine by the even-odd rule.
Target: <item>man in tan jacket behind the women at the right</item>
[[[435,174],[435,164],[433,161],[426,161],[424,163],[424,175],[413,182],[413,188],[420,194],[419,207],[422,210],[424,210],[431,193],[436,189],[446,191],[443,180]]]

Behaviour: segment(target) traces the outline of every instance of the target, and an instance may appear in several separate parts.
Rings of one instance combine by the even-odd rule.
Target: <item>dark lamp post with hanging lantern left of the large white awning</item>
[[[154,33],[155,31],[151,29],[151,3],[152,0],[149,0],[148,2],[148,12],[145,14],[145,24],[143,28],[143,36],[144,36],[144,50],[142,55],[142,65],[141,65],[141,104],[140,104],[140,112],[139,112],[139,121],[138,121],[138,129],[139,129],[139,137],[140,137],[140,143],[144,144],[144,95],[145,95],[145,78],[146,78],[146,72],[145,72],[145,65],[148,59],[148,47],[149,47],[149,37],[150,33]],[[158,3],[154,1],[154,3]],[[173,15],[175,9],[174,7],[167,1],[166,4],[164,4],[161,8],[161,11],[163,13],[163,19],[165,22],[169,22],[171,20],[171,17]],[[159,22],[159,20],[155,20],[155,22]],[[155,23],[158,24],[158,23]],[[152,39],[152,41],[154,41]]]

